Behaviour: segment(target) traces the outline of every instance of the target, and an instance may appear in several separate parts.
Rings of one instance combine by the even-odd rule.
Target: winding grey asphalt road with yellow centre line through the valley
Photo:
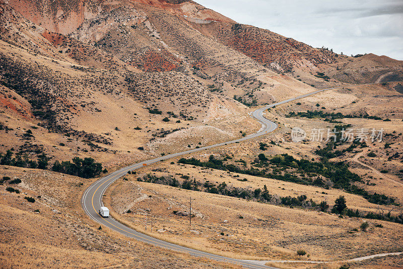
[[[96,222],[107,226],[108,228],[121,233],[127,237],[131,237],[131,238],[135,238],[139,241],[145,242],[145,243],[149,243],[155,246],[159,246],[159,247],[163,247],[163,248],[167,248],[170,250],[175,250],[175,251],[180,251],[180,252],[186,252],[189,253],[193,256],[196,257],[205,257],[205,258],[210,258],[213,260],[218,260],[218,261],[225,261],[225,262],[231,262],[231,263],[235,263],[235,264],[240,264],[244,267],[247,268],[253,268],[253,269],[261,269],[261,268],[274,268],[274,267],[270,267],[270,266],[265,266],[265,265],[259,265],[256,263],[253,263],[253,261],[251,260],[250,262],[245,261],[245,260],[240,260],[240,259],[232,259],[232,258],[228,258],[228,257],[223,257],[223,256],[219,256],[219,255],[214,255],[208,252],[204,252],[204,251],[199,251],[199,250],[195,250],[195,249],[191,249],[191,248],[187,248],[187,247],[183,247],[183,246],[179,246],[179,245],[175,245],[175,244],[171,244],[168,242],[165,242],[163,240],[159,240],[156,239],[154,237],[145,235],[143,233],[137,232],[133,229],[130,229],[126,226],[124,226],[123,224],[115,221],[113,218],[102,218],[99,214],[98,214],[98,210],[101,206],[103,206],[102,204],[102,195],[105,192],[105,189],[112,184],[116,179],[124,176],[127,171],[132,171],[135,170],[137,168],[143,167],[144,165],[149,165],[152,163],[156,163],[162,160],[167,160],[173,157],[178,157],[181,155],[186,155],[189,153],[193,153],[196,151],[203,151],[206,149],[210,149],[210,148],[214,148],[214,147],[219,147],[219,146],[224,146],[224,145],[228,145],[228,144],[232,144],[232,143],[237,143],[237,142],[242,142],[244,140],[249,140],[252,138],[256,138],[256,137],[260,137],[260,136],[264,136],[264,134],[270,133],[272,131],[274,131],[278,125],[277,123],[268,120],[266,118],[263,117],[263,111],[265,111],[268,108],[274,107],[276,105],[281,105],[284,103],[288,103],[297,99],[301,99],[313,94],[317,94],[323,91],[327,91],[327,90],[333,90],[333,89],[338,89],[338,88],[342,88],[342,87],[335,87],[335,88],[328,88],[328,89],[322,89],[322,90],[318,90],[318,91],[314,91],[314,92],[310,92],[304,95],[300,95],[297,97],[293,97],[278,103],[274,103],[271,105],[267,105],[265,107],[256,109],[255,111],[252,112],[252,116],[259,121],[262,124],[262,127],[259,131],[257,131],[256,133],[253,134],[249,134],[248,136],[245,136],[243,138],[237,139],[237,140],[233,140],[233,141],[229,141],[229,142],[225,142],[225,143],[219,143],[219,144],[215,144],[215,145],[211,145],[211,146],[207,146],[207,147],[202,147],[199,149],[193,149],[193,150],[188,150],[188,151],[184,151],[184,152],[180,152],[180,153],[174,153],[174,154],[170,154],[170,155],[166,155],[163,157],[159,157],[156,159],[152,159],[152,160],[148,160],[148,161],[144,161],[141,163],[137,163],[137,164],[132,164],[130,166],[121,168],[105,177],[102,177],[101,179],[99,179],[98,181],[94,182],[85,192],[84,195],[82,197],[82,206],[83,209],[85,211],[85,213],[93,220],[95,220]]]

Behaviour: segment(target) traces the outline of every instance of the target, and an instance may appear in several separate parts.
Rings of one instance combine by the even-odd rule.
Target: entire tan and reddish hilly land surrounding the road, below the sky
[[[142,167],[103,201],[130,227],[144,231],[147,216],[153,236],[228,257],[401,252],[401,81],[403,61],[314,48],[193,1],[0,0],[0,262],[237,268],[98,229],[81,196],[127,165],[254,134],[258,107],[327,88],[265,110],[275,131]],[[375,129],[383,140],[341,139]],[[386,263],[403,266],[401,255],[349,265]]]

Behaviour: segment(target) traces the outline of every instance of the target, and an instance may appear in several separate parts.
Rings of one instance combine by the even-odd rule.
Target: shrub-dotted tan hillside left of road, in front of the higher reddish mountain
[[[221,133],[221,139],[239,136],[238,128],[251,122],[243,105],[217,97],[186,74],[139,73],[138,69],[111,56],[113,54],[90,44],[47,30],[37,34],[32,31],[35,25],[9,6],[2,8],[3,29],[8,33],[2,35],[8,43],[1,44],[3,107],[6,114],[14,115],[13,120],[22,117],[28,120],[27,125],[39,125],[38,130],[55,133],[56,145],[69,145],[67,142],[76,140],[78,145],[72,147],[78,150],[74,152],[84,151],[86,155],[92,150],[102,155],[109,152],[112,156],[121,152],[123,159],[130,160],[134,156],[138,158],[139,154],[142,156],[137,149],[141,145],[150,144],[153,150],[149,154],[158,153],[154,143],[172,132],[186,133],[189,127],[196,126],[208,129],[204,136],[199,133],[190,136],[183,145],[174,146],[182,148],[194,140],[214,143],[215,132]],[[17,47],[17,42],[34,45]],[[13,99],[13,95],[18,99]],[[17,109],[16,101],[23,107]],[[161,115],[150,113],[153,109]],[[162,121],[165,117],[170,118],[169,121]],[[236,129],[233,118],[237,118]],[[7,123],[10,128],[13,120]],[[133,129],[135,127],[140,129]],[[9,145],[24,144],[17,142],[14,134],[8,133],[6,137],[10,139]],[[42,140],[42,137],[36,139]],[[86,149],[83,147],[86,143],[92,146]],[[128,145],[133,146],[127,149]],[[72,147],[66,147],[58,150],[61,156],[73,153]]]

